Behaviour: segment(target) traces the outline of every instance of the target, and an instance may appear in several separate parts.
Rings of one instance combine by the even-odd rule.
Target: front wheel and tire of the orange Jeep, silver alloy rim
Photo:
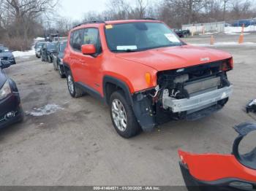
[[[141,132],[132,106],[128,103],[122,90],[118,90],[110,96],[110,116],[116,132],[125,139],[137,136]]]

